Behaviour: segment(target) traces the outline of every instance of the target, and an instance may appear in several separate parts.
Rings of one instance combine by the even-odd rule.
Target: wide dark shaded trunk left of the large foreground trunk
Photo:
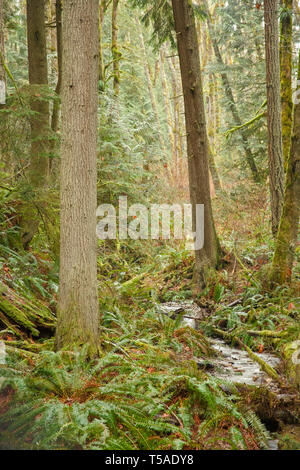
[[[31,206],[24,208],[22,216],[22,241],[25,247],[35,235],[40,222],[34,207],[41,190],[47,185],[50,145],[50,110],[44,96],[48,86],[46,0],[27,0],[26,6],[30,107],[33,112],[30,118],[31,150],[27,177],[34,196]]]

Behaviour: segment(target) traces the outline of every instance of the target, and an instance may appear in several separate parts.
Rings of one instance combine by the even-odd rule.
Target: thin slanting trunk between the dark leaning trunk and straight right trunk
[[[232,114],[235,125],[236,126],[241,126],[242,125],[242,120],[240,118],[240,115],[239,115],[239,112],[238,112],[238,109],[237,109],[237,106],[236,106],[236,102],[235,102],[235,99],[234,99],[234,96],[233,96],[233,92],[232,92],[232,89],[231,89],[231,86],[230,86],[230,82],[229,82],[227,73],[224,71],[225,64],[223,62],[223,58],[222,58],[222,55],[221,55],[221,52],[220,52],[219,45],[218,45],[218,43],[215,39],[213,24],[212,24],[212,21],[211,21],[209,8],[207,6],[206,0],[203,0],[203,4],[205,5],[205,9],[207,11],[207,25],[208,25],[208,31],[209,31],[210,39],[211,39],[211,42],[212,42],[212,45],[213,45],[214,53],[215,53],[217,62],[220,65],[220,69],[223,70],[223,72],[221,72],[221,79],[222,79],[222,84],[223,84],[225,96],[226,96],[226,99],[228,101],[229,110]],[[251,170],[253,180],[256,181],[256,182],[259,182],[260,181],[260,175],[258,173],[258,169],[257,169],[256,163],[255,163],[255,160],[254,160],[254,156],[253,156],[253,153],[252,153],[247,135],[246,135],[245,131],[243,131],[243,130],[240,130],[240,134],[241,134],[241,138],[242,138],[242,144],[243,144],[243,148],[244,148],[244,152],[245,152],[246,161],[247,161],[247,164],[249,166],[249,169]]]

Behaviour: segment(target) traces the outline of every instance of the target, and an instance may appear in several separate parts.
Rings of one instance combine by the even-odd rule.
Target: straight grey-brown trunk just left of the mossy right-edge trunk
[[[265,47],[267,83],[268,156],[271,193],[272,232],[276,236],[283,204],[284,171],[282,156],[278,0],[265,0]]]

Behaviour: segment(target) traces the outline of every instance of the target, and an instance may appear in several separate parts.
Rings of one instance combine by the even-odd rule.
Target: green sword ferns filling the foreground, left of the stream
[[[88,360],[84,349],[22,359],[9,354],[1,366],[0,447],[266,446],[268,433],[240,403],[233,386],[232,393],[224,393],[220,382],[200,372],[193,360],[168,350],[166,340],[130,336],[127,332],[110,341],[95,361]],[[201,349],[202,355],[209,353],[205,341]]]

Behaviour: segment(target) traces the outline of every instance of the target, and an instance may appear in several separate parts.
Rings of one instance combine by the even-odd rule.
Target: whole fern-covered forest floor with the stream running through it
[[[222,266],[197,298],[178,242],[102,243],[97,360],[53,352],[47,250],[0,246],[0,448],[300,449],[283,354],[299,338],[299,247],[293,284],[270,291],[267,195],[226,189],[214,202]]]

